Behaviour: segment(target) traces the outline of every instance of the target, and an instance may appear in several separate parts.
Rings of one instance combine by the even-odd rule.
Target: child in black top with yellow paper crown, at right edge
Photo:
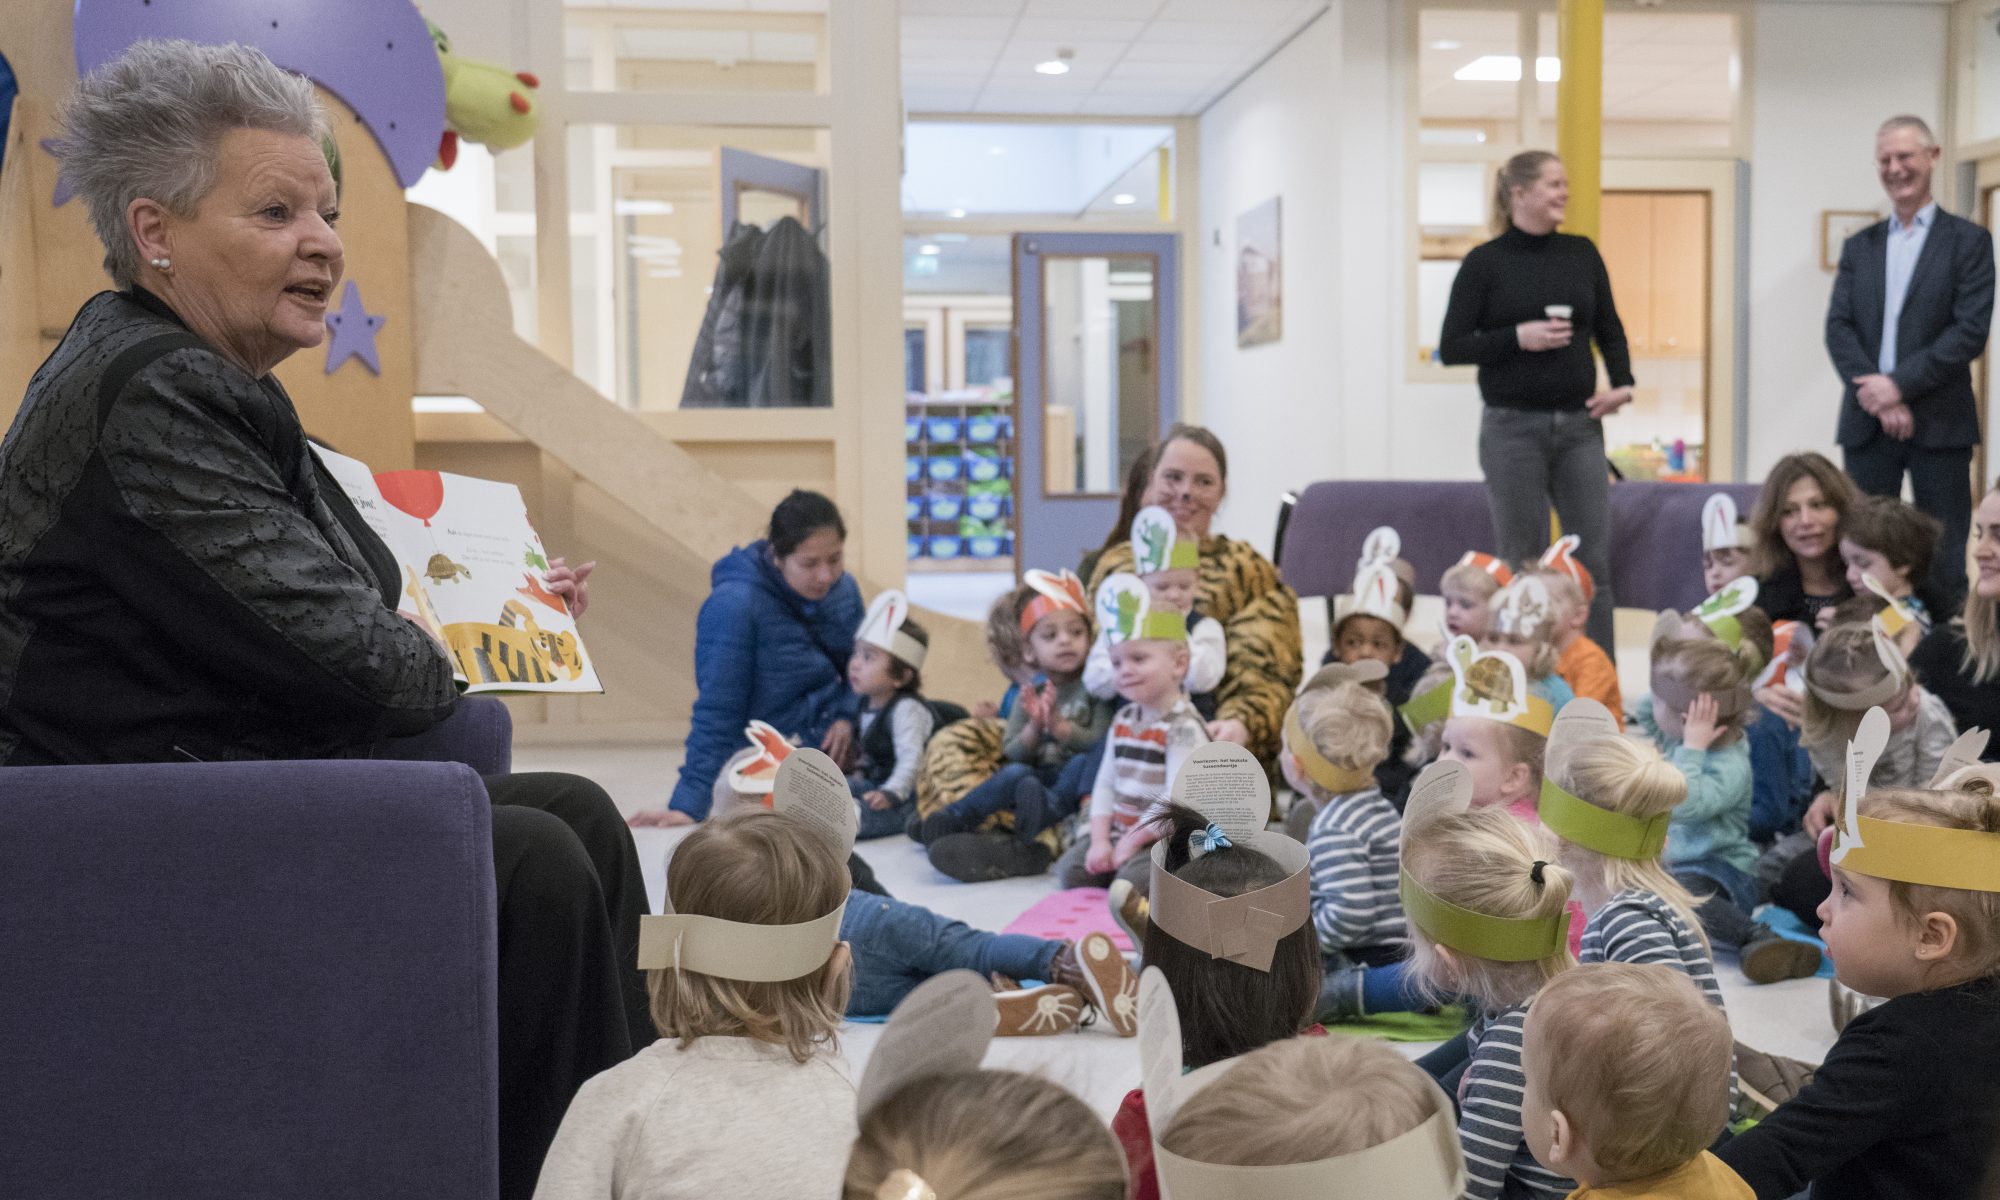
[[[1866,724],[1886,738],[1886,722]],[[1718,1154],[1760,1198],[1810,1184],[1814,1200],[1972,1200],[1990,1194],[1980,1180],[2000,1124],[1996,772],[1862,794],[1870,746],[1860,750],[1828,836],[1820,930],[1834,976],[1886,1002],[1850,1020],[1812,1082]]]

